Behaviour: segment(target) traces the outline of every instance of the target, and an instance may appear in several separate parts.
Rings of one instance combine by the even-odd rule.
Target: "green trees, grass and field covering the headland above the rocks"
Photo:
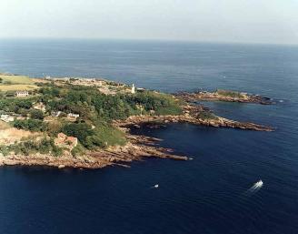
[[[27,86],[34,82],[26,76],[0,76],[1,86]],[[29,80],[28,80],[29,79]],[[5,84],[4,84],[5,83]],[[111,83],[116,88],[115,83]],[[73,86],[65,83],[56,86],[52,83],[38,83],[31,97],[15,97],[15,93],[5,92],[0,98],[0,110],[12,114],[17,119],[13,127],[29,131],[44,132],[51,140],[36,143],[23,141],[1,150],[14,150],[22,154],[32,152],[54,152],[60,154],[53,138],[60,132],[69,137],[77,137],[79,144],[72,149],[74,156],[84,150],[124,145],[124,132],[115,128],[112,121],[134,115],[180,115],[183,113],[181,103],[171,95],[153,91],[130,93],[118,92],[116,95],[105,95],[94,86]],[[34,85],[34,86],[35,86]],[[124,89],[123,89],[124,90]],[[33,108],[35,103],[45,105],[45,113]],[[59,117],[55,113],[59,112]],[[69,118],[67,114],[78,114]],[[21,117],[23,119],[20,119]],[[45,145],[45,148],[41,144]]]

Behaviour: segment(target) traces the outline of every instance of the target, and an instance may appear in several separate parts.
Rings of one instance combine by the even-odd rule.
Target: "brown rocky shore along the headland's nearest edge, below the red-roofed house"
[[[125,129],[123,129],[125,130]],[[127,131],[127,129],[125,130]],[[46,166],[54,168],[104,168],[107,166],[122,166],[128,168],[128,163],[143,158],[170,158],[188,160],[184,156],[174,155],[170,148],[159,148],[156,143],[161,139],[126,134],[128,143],[125,146],[114,146],[96,151],[88,151],[84,156],[73,157],[65,153],[61,157],[53,155],[15,155],[4,156],[0,153],[0,166]]]

